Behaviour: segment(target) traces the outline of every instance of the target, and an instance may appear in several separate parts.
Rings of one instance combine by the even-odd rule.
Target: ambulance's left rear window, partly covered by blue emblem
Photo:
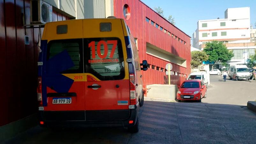
[[[83,39],[49,41],[47,59],[46,73],[83,73]]]

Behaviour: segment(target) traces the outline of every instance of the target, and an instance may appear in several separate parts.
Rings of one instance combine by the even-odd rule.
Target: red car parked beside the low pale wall
[[[201,99],[207,97],[207,88],[201,80],[185,80],[177,92],[177,100],[196,100],[201,102]]]

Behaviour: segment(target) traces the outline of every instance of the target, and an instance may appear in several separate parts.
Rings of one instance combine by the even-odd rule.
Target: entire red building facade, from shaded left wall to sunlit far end
[[[144,87],[167,84],[165,65],[172,63],[172,84],[190,73],[190,37],[139,0],[44,0],[52,5],[52,21],[80,18],[124,18],[136,38]],[[30,0],[0,0],[1,126],[38,111],[37,61],[42,25],[31,25]],[[1,132],[1,131],[0,131]]]

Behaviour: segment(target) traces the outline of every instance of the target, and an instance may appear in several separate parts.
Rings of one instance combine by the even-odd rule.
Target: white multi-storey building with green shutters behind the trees
[[[203,49],[206,42],[223,42],[233,50],[234,57],[229,64],[246,64],[255,54],[255,44],[251,43],[250,7],[228,8],[223,19],[199,20],[193,34],[193,47]]]

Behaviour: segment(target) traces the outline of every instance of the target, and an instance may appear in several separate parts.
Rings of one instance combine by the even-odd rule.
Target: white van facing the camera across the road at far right
[[[246,65],[234,65],[229,67],[229,78],[238,80],[249,80],[250,72]]]

